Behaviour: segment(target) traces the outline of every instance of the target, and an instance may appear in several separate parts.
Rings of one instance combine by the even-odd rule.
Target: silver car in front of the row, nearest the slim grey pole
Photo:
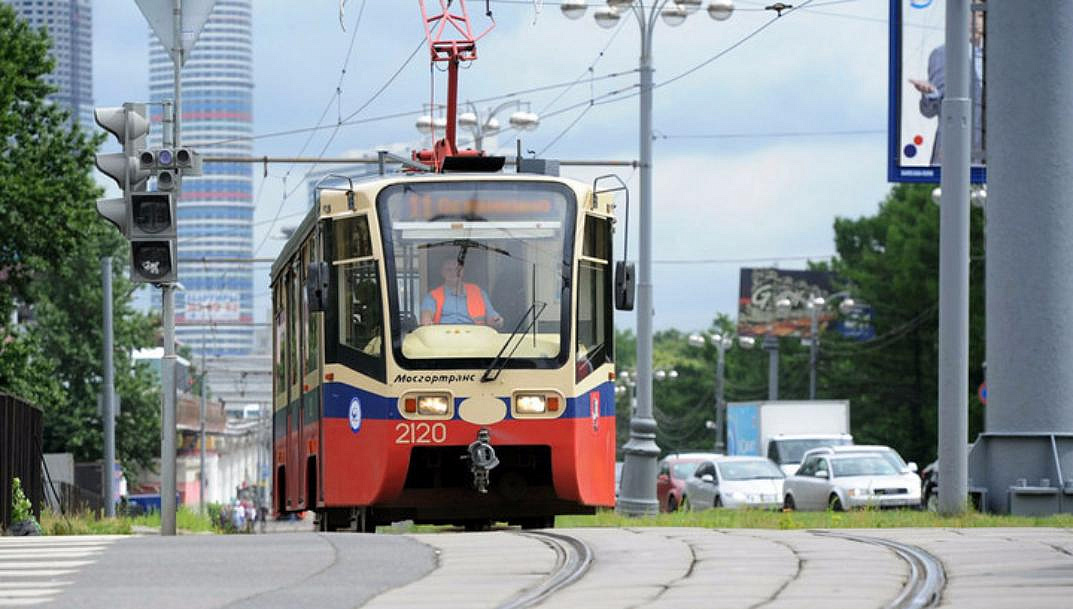
[[[813,454],[782,487],[788,509],[916,507],[921,484],[876,452]]]

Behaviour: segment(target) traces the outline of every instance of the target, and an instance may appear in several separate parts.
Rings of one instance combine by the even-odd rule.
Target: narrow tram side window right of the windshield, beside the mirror
[[[585,218],[585,240],[577,265],[577,381],[612,360],[611,222]]]

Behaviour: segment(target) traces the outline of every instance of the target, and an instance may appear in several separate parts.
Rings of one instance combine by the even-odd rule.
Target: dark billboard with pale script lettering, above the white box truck
[[[738,288],[738,336],[808,337],[812,332],[809,302],[819,296],[827,300],[817,312],[821,330],[834,324],[832,329],[848,339],[874,338],[871,307],[856,302],[839,315],[840,302],[832,301],[833,293],[835,298],[846,297],[846,293],[837,292],[835,284],[835,274],[828,271],[743,268]],[[776,302],[782,299],[790,301],[790,308],[779,311]]]

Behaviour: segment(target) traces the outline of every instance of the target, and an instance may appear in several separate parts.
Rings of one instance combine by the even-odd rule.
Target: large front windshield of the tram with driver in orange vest
[[[575,200],[563,184],[416,182],[378,207],[393,348],[409,368],[565,360]]]

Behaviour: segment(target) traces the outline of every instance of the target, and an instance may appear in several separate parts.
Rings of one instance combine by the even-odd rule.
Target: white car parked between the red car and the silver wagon
[[[682,508],[774,509],[782,505],[785,475],[764,457],[719,457],[701,463],[686,480]]]

